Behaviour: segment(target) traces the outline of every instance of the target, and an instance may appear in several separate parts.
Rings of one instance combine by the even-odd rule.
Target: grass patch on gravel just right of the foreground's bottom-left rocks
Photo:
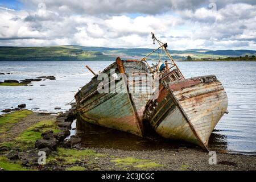
[[[72,164],[79,162],[88,157],[102,157],[104,154],[97,154],[93,150],[75,150],[67,148],[57,148],[58,155],[65,161],[65,163]]]

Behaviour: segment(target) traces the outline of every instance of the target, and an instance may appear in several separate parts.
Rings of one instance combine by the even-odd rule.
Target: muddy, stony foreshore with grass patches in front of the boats
[[[105,147],[80,143],[69,134],[68,114],[19,110],[0,117],[0,170],[255,170],[256,156],[217,151],[210,165],[208,152],[181,144],[175,148]],[[77,131],[77,133],[82,133]],[[92,132],[92,131],[91,131]],[[82,135],[82,134],[81,134]],[[95,136],[98,134],[96,133]],[[121,134],[120,136],[121,137]],[[121,138],[119,138],[122,140]],[[111,138],[110,138],[111,140]],[[141,139],[142,141],[143,139]],[[118,141],[118,139],[113,140]],[[111,142],[111,141],[110,141]],[[138,141],[139,142],[139,141]],[[104,143],[104,142],[103,142]],[[125,146],[126,143],[123,143]],[[134,146],[137,146],[134,143]],[[45,151],[46,164],[38,163]]]

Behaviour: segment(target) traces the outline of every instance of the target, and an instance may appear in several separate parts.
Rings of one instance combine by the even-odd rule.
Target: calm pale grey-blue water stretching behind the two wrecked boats
[[[112,61],[0,61],[0,73],[13,73],[0,75],[0,81],[23,80],[37,76],[56,77],[56,80],[32,82],[33,86],[0,86],[0,110],[16,107],[22,103],[27,105],[27,109],[37,111],[56,112],[54,107],[61,107],[62,111],[68,110],[70,108],[68,103],[73,100],[74,94],[93,76],[85,65],[98,72],[110,63]],[[228,94],[229,114],[225,114],[216,126],[210,138],[210,146],[224,148],[229,152],[256,154],[256,62],[178,62],[177,64],[186,78],[216,75]],[[42,84],[46,86],[40,86]],[[32,100],[28,100],[30,98]],[[111,132],[113,133],[112,130]],[[95,135],[95,139],[100,140],[100,136]],[[110,137],[109,140],[111,142],[114,138]],[[122,139],[120,140],[122,143]],[[139,144],[148,145],[148,140],[137,137],[135,140]],[[156,144],[161,146],[159,140],[156,143],[149,141],[152,146]],[[166,145],[166,142],[163,143],[162,145]]]

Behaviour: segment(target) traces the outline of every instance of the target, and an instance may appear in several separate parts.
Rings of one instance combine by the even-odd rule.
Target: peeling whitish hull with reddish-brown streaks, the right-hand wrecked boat
[[[208,150],[214,127],[227,111],[228,97],[216,76],[163,81],[144,118],[164,138],[185,140]]]

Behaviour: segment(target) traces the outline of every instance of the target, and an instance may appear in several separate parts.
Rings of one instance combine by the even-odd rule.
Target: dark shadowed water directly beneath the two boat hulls
[[[106,127],[92,125],[77,118],[77,135],[81,137],[81,146],[96,148],[114,148],[119,150],[160,150],[178,149],[181,147],[199,148],[194,144],[165,139],[146,127],[144,138]],[[214,132],[210,137],[210,147],[214,150],[226,150],[227,141],[224,135]]]

